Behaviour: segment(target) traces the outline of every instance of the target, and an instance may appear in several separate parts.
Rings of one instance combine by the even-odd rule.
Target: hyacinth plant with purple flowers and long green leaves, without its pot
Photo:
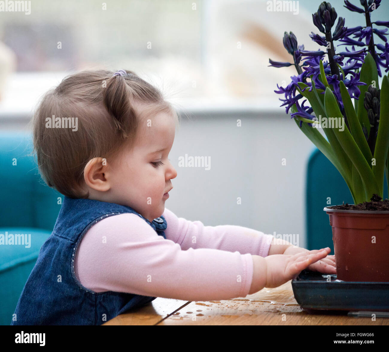
[[[309,36],[324,48],[305,51],[292,32],[285,32],[284,47],[293,63],[269,59],[269,66],[296,68],[292,81],[286,87],[277,84],[275,93],[284,95],[280,100],[286,113],[291,111],[303,133],[340,172],[354,204],[370,201],[373,194],[384,198],[384,172],[389,186],[389,79],[385,75],[389,71],[389,21],[371,22],[381,0],[359,1],[361,7],[347,0],[344,7],[364,14],[366,26],[347,28],[345,19],[339,17],[333,30],[338,15],[331,4],[322,2],[312,14],[322,34],[311,32]],[[385,45],[375,44],[375,36]],[[351,48],[337,52],[334,42],[340,43],[336,47]],[[378,76],[382,77],[381,88]],[[310,106],[305,105],[307,100]]]

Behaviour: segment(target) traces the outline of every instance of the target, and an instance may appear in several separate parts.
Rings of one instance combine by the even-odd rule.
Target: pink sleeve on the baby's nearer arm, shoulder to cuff
[[[251,254],[182,250],[137,215],[120,214],[88,230],[76,251],[75,270],[81,284],[95,292],[209,301],[246,296],[253,262]]]

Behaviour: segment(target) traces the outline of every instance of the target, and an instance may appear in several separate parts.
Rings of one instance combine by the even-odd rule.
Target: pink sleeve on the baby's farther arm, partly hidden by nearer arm
[[[266,257],[269,253],[272,235],[236,225],[204,226],[201,221],[188,221],[177,217],[165,208],[166,238],[178,243],[181,249],[214,248],[250,253]]]

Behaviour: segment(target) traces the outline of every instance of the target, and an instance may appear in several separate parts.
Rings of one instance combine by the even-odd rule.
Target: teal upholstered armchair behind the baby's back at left
[[[40,247],[54,228],[63,195],[44,183],[28,156],[30,134],[1,132],[0,147],[0,324],[9,325]],[[30,243],[9,244],[5,236],[11,234],[30,234]]]

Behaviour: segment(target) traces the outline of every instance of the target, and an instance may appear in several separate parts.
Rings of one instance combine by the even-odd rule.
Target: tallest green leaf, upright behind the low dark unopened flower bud
[[[361,125],[362,123],[365,124],[367,133],[369,135],[370,122],[367,117],[367,111],[363,106],[364,93],[367,91],[368,86],[370,86],[370,84],[373,84],[373,81],[375,82],[376,88],[379,88],[377,65],[373,59],[373,56],[371,56],[370,53],[368,53],[364,58],[364,63],[362,64],[361,67],[361,76],[359,78],[359,81],[366,83],[366,86],[359,86],[361,95],[359,95],[359,100],[358,100],[358,110],[357,110],[358,120]]]

